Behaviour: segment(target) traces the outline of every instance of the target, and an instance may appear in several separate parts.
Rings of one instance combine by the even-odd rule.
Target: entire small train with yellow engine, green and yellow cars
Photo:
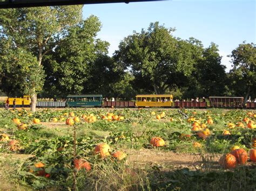
[[[30,97],[15,98],[16,107],[30,107]],[[14,98],[9,98],[12,107]],[[206,101],[173,101],[172,95],[137,95],[135,101],[107,101],[102,95],[68,95],[66,101],[38,101],[37,108],[240,108],[255,109],[256,102],[247,102],[244,97],[208,97]]]

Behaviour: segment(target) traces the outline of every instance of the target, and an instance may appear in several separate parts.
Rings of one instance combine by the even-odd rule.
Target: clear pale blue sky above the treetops
[[[83,17],[99,17],[102,29],[97,38],[110,43],[111,56],[124,37],[159,22],[175,27],[175,37],[200,40],[204,47],[211,42],[219,47],[226,72],[232,68],[230,55],[243,41],[256,41],[256,0],[173,0],[159,2],[111,3],[84,5]]]

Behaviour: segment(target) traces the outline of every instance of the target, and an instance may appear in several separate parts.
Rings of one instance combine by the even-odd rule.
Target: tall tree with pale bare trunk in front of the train
[[[37,68],[42,68],[44,55],[55,48],[67,35],[66,31],[69,27],[80,20],[82,20],[82,5],[1,10],[0,54],[9,55],[6,57],[7,60],[12,60],[14,57],[11,58],[10,55],[14,55],[13,52],[19,52],[18,48],[22,48],[31,56],[31,60],[35,58],[37,60],[38,67],[29,68],[31,72],[35,72],[33,76],[41,74],[43,79],[43,73],[37,73]],[[25,56],[20,58],[25,59]],[[3,60],[1,65],[4,65]],[[12,69],[15,70],[15,68]],[[3,73],[2,77],[5,78]],[[42,83],[36,83],[37,79],[34,77],[31,80],[35,80],[30,83],[36,86],[28,86],[31,88],[28,92],[31,96],[31,111],[35,111],[37,89],[41,89],[37,86],[41,86]]]

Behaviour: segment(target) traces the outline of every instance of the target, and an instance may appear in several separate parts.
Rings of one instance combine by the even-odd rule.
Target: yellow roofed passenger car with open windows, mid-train
[[[172,95],[137,95],[137,107],[171,107]]]

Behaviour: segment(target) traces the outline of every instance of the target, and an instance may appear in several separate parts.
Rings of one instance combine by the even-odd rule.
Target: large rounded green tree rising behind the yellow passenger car
[[[124,68],[131,68],[138,89],[163,94],[181,86],[191,75],[202,45],[193,38],[176,39],[171,34],[174,31],[151,23],[147,31],[133,32],[119,44],[114,59]]]

